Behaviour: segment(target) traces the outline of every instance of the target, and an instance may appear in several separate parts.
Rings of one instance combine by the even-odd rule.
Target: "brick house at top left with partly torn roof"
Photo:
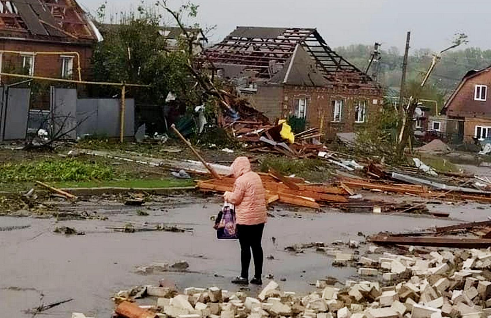
[[[2,0],[0,10],[3,73],[90,77],[92,48],[102,36],[75,0]]]

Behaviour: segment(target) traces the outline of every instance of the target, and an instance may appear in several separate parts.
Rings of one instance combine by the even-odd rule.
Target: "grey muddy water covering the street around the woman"
[[[179,288],[220,286],[232,291],[230,279],[240,268],[239,246],[235,241],[218,241],[210,216],[220,209],[218,197],[174,197],[144,207],[127,207],[111,200],[91,199],[77,204],[58,203],[60,211],[88,212],[100,219],[61,220],[55,218],[0,217],[0,309],[3,317],[30,317],[23,310],[67,298],[73,301],[43,313],[44,318],[71,317],[83,312],[97,318],[110,317],[114,292],[137,285],[158,285],[161,279]],[[144,209],[148,216],[137,211]],[[488,206],[438,205],[459,220],[483,220]],[[314,214],[291,207],[271,211],[265,228],[264,274],[272,274],[283,290],[306,292],[312,283],[326,276],[345,280],[355,276],[351,267],[333,267],[332,258],[306,250],[301,254],[284,251],[296,243],[349,239],[360,240],[380,231],[413,231],[457,221],[432,217],[387,214],[347,214],[335,211]],[[107,217],[107,219],[106,219]],[[192,233],[119,233],[107,227],[152,227],[171,224],[192,228]],[[56,227],[72,227],[85,235],[53,233]],[[274,243],[273,243],[273,237]],[[152,262],[189,263],[189,273],[167,272],[142,275],[136,267]],[[285,281],[280,281],[281,279]],[[266,280],[267,281],[267,280]],[[250,288],[251,294],[257,288]]]

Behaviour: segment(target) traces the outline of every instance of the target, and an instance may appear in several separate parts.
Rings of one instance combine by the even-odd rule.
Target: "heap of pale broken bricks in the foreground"
[[[143,286],[119,291],[119,318],[482,318],[491,315],[491,253],[434,251],[425,257],[383,253],[360,258],[360,280],[319,279],[305,295],[270,281],[257,297],[218,287]],[[379,281],[382,278],[383,283]],[[383,287],[385,286],[385,287]],[[154,305],[134,299],[153,296]],[[148,302],[147,302],[148,303]]]

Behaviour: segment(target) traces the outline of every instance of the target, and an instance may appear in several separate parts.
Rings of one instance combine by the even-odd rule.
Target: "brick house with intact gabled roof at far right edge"
[[[441,118],[430,123],[430,130],[439,129],[454,136],[456,142],[473,139],[491,140],[491,66],[467,72],[455,92],[442,109],[446,123]]]

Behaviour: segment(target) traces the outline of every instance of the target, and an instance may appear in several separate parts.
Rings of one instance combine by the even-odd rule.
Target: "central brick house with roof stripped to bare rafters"
[[[327,138],[354,132],[382,106],[381,87],[314,28],[237,27],[205,54],[270,120],[305,118]]]

